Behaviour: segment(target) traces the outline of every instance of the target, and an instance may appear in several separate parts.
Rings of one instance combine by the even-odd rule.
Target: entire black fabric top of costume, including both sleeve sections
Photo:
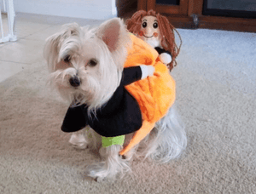
[[[75,132],[89,125],[97,134],[115,137],[130,134],[142,127],[143,118],[137,100],[125,89],[142,77],[140,66],[128,67],[123,71],[119,87],[108,102],[88,114],[86,105],[70,106],[61,126],[64,132]]]

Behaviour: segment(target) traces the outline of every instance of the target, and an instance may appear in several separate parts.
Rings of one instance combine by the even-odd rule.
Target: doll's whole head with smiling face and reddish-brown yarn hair
[[[156,14],[154,10],[148,12],[137,11],[131,19],[126,20],[128,31],[134,33],[153,47],[162,47],[172,54],[172,61],[168,64],[170,71],[177,65],[176,57],[180,47],[175,43],[174,30],[165,16]]]

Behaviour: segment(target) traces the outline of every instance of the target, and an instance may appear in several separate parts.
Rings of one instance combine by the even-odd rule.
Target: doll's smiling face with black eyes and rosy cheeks
[[[141,31],[139,32],[138,37],[149,43],[152,47],[160,46],[160,30],[156,17],[143,17]]]

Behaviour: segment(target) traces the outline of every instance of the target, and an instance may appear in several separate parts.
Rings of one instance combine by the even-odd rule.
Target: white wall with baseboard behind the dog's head
[[[1,1],[1,0],[0,0]],[[116,16],[115,0],[14,0],[15,12],[105,20]]]

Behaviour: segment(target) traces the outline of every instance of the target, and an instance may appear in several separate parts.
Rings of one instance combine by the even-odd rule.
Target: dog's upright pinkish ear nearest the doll
[[[102,38],[103,42],[107,44],[110,52],[113,52],[119,47],[119,40],[125,26],[119,18],[114,18],[102,23],[97,31],[97,36]]]

